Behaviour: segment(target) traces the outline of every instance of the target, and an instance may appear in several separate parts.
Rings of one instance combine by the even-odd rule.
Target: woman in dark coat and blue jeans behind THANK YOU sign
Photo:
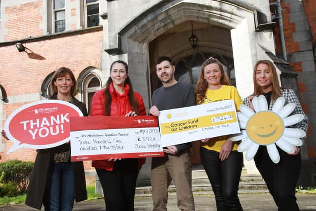
[[[59,68],[52,79],[50,99],[63,100],[76,105],[88,116],[84,103],[77,94],[76,80],[69,68]],[[83,162],[71,162],[70,144],[37,150],[30,186],[25,204],[45,211],[71,211],[76,202],[87,199]]]

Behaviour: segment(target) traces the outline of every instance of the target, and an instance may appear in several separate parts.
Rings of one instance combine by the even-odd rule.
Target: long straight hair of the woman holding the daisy
[[[254,85],[253,95],[258,96],[258,95],[261,95],[264,93],[262,91],[261,87],[259,86],[259,84],[257,83],[257,80],[256,80],[256,71],[257,71],[257,67],[259,64],[266,64],[269,67],[269,72],[272,74],[272,96],[271,96],[271,99],[273,101],[275,101],[277,98],[282,96],[282,94],[281,94],[280,83],[279,83],[278,77],[277,77],[276,67],[269,60],[259,60],[259,61],[257,61],[257,63],[255,64],[255,67],[253,68],[253,85]]]

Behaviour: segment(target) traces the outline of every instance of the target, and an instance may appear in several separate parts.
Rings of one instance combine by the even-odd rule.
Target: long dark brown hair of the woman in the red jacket
[[[112,67],[115,63],[119,63],[124,65],[125,69],[126,69],[126,73],[128,74],[128,65],[126,62],[122,61],[122,60],[117,60],[114,61],[111,64],[110,67],[110,73],[112,71]],[[104,102],[104,116],[110,116],[111,113],[111,101],[112,101],[112,97],[111,97],[111,93],[110,93],[110,85],[112,83],[112,78],[109,77],[108,81],[105,84],[105,90],[104,90],[104,96],[105,96],[105,102]],[[130,107],[133,109],[133,111],[136,112],[136,114],[138,114],[139,108],[138,108],[138,103],[134,94],[134,90],[133,90],[133,86],[132,83],[130,81],[129,76],[127,76],[127,78],[125,79],[125,84],[128,84],[129,86],[129,93],[128,93],[128,101],[129,101],[129,105]]]

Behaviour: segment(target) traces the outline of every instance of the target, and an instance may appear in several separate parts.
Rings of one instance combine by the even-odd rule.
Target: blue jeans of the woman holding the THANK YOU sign
[[[71,162],[53,163],[51,182],[47,184],[45,211],[71,211],[74,205],[75,190]]]

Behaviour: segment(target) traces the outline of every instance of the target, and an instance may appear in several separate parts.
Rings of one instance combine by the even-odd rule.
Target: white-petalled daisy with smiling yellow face
[[[280,155],[276,145],[287,153],[294,153],[293,146],[301,146],[300,138],[306,135],[301,129],[286,128],[304,119],[302,114],[289,116],[295,103],[288,103],[284,106],[284,97],[279,97],[272,107],[268,110],[268,103],[263,95],[254,97],[252,104],[255,112],[245,105],[240,105],[241,112],[237,112],[238,120],[242,130],[238,135],[231,137],[232,141],[244,139],[238,146],[238,152],[246,152],[246,160],[251,160],[259,145],[267,147],[270,159],[274,163],[280,161]]]

